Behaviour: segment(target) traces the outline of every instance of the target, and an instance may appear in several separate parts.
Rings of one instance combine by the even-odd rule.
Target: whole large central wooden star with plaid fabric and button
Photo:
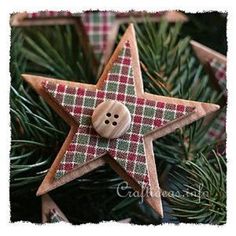
[[[144,92],[132,24],[96,85],[22,76],[71,127],[37,195],[109,163],[161,216],[152,141],[219,109]]]

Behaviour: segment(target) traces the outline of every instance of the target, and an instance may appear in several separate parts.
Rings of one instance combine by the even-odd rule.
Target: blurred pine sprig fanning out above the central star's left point
[[[25,28],[22,33],[24,46],[20,53],[29,61],[28,73],[95,83],[92,55],[82,50],[81,38],[73,26]]]

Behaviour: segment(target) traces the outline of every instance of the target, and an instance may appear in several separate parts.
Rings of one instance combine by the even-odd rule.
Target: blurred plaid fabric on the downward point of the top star
[[[81,14],[81,20],[95,55],[101,56],[106,49],[108,36],[115,21],[115,14],[107,11],[84,12]]]

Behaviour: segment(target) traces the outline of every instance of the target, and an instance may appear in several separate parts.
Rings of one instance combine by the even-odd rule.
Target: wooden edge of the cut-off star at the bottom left
[[[44,194],[43,196],[41,196],[41,202],[42,202],[41,214],[42,214],[43,224],[48,223],[48,215],[50,213],[50,210],[53,209],[56,210],[56,212],[60,215],[60,217],[63,218],[65,222],[69,222],[65,214],[61,211],[58,205],[52,200],[52,198],[48,194]]]

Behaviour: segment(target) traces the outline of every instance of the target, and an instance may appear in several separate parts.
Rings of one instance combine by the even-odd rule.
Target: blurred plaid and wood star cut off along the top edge
[[[21,12],[11,17],[12,26],[35,25],[67,25],[75,26],[78,35],[84,37],[83,47],[93,48],[95,59],[106,63],[112,53],[120,25],[130,22],[144,22],[146,19],[152,22],[166,20],[168,22],[186,22],[187,16],[178,11],[161,12],[115,12],[115,11],[85,11],[71,13],[69,11],[39,11]],[[88,45],[90,42],[90,45]],[[100,61],[101,60],[101,61]],[[98,63],[97,62],[97,63]]]

